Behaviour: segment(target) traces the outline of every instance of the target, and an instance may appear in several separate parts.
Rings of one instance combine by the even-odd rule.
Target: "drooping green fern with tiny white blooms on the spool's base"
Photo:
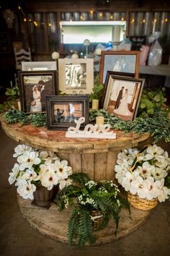
[[[112,181],[94,182],[86,174],[72,174],[70,178],[77,185],[63,188],[54,200],[58,210],[73,203],[68,221],[68,244],[72,246],[74,239],[78,240],[79,248],[86,242],[94,244],[94,229],[103,229],[109,218],[115,220],[116,234],[122,205],[129,208],[117,185]]]

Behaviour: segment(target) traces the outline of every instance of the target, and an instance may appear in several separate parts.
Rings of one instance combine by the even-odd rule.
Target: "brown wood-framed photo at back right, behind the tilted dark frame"
[[[138,78],[140,51],[102,51],[99,82],[104,83],[107,71],[130,73]]]

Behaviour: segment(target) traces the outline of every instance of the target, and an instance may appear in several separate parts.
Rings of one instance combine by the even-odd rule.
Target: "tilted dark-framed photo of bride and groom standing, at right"
[[[107,72],[102,107],[124,121],[135,119],[145,80]]]

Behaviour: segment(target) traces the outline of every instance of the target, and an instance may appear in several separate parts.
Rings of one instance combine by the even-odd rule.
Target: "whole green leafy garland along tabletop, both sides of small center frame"
[[[169,119],[166,112],[160,111],[159,108],[155,108],[151,117],[137,117],[133,121],[122,121],[122,119],[109,114],[104,109],[91,110],[89,121],[95,121],[96,116],[104,116],[105,124],[110,124],[112,129],[123,132],[136,132],[138,134],[148,132],[155,142],[163,138],[166,142],[170,142]],[[32,124],[35,127],[46,126],[46,114],[27,115],[22,111],[11,109],[4,114],[4,118],[8,124],[19,123],[20,126],[25,124]]]

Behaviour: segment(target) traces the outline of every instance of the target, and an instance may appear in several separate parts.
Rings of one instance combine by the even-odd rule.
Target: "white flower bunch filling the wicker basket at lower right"
[[[157,145],[138,150],[129,148],[118,154],[116,179],[132,195],[164,202],[170,196],[170,158]]]

